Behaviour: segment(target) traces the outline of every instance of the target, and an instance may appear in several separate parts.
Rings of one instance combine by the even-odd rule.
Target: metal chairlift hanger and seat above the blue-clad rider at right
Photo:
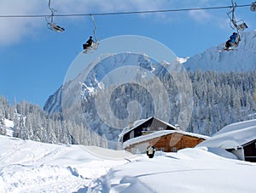
[[[236,9],[236,3],[231,0],[232,6],[231,11],[228,12],[228,16],[230,18],[230,27],[234,30],[236,28],[237,33],[239,34],[239,31],[244,31],[244,29],[248,28],[247,24],[243,20],[236,21],[235,17],[235,9]],[[231,16],[230,16],[231,14]]]

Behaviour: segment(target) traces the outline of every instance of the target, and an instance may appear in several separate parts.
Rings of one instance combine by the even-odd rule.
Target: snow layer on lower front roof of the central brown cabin
[[[182,130],[163,130],[163,131],[156,131],[154,133],[149,133],[149,134],[146,134],[146,135],[142,135],[142,136],[139,136],[137,138],[129,139],[129,140],[124,142],[123,148],[125,149],[126,147],[128,147],[132,144],[137,144],[137,143],[140,143],[140,142],[143,142],[143,141],[146,141],[146,140],[159,138],[161,136],[171,134],[171,133],[179,133],[179,134],[183,134],[183,135],[189,135],[189,136],[200,138],[200,139],[209,139],[210,138],[206,135],[184,132]]]

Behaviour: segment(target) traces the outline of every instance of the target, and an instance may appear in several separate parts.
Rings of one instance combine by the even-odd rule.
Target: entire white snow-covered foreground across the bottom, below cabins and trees
[[[205,148],[153,159],[0,136],[0,192],[256,192],[256,164]]]

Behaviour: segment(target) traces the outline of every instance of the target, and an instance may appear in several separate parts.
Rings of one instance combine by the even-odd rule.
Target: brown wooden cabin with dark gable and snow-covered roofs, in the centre
[[[154,145],[156,150],[176,152],[183,148],[195,147],[208,138],[200,134],[183,132],[178,127],[155,117],[137,122],[119,134],[123,149],[131,153],[144,153],[148,145]]]

